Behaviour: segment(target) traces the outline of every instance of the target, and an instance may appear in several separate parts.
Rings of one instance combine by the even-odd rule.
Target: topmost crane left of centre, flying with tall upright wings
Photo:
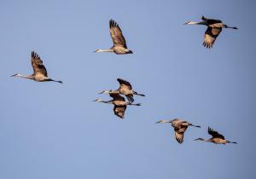
[[[127,49],[122,31],[114,20],[109,20],[109,32],[113,40],[113,47],[110,49],[97,49],[95,52],[114,52],[117,55],[132,54],[131,49]]]

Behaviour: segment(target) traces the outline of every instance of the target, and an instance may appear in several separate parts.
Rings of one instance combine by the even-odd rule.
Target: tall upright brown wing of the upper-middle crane
[[[122,34],[119,24],[116,23],[114,20],[109,20],[109,32],[113,40],[113,46],[124,47],[125,49],[127,49],[125,38]]]

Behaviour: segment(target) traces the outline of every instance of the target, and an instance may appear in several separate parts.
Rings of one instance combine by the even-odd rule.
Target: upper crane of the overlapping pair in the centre
[[[119,82],[119,89],[118,90],[102,90],[99,94],[121,94],[125,95],[127,100],[129,102],[133,102],[133,95],[141,95],[145,96],[143,94],[139,94],[136,91],[132,90],[131,84],[126,81],[125,79],[117,78]]]

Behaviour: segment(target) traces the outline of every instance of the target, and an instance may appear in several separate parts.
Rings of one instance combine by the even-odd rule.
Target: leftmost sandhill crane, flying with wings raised
[[[44,67],[43,61],[41,61],[39,55],[34,51],[32,51],[31,62],[32,62],[32,68],[34,71],[34,73],[32,75],[24,76],[19,73],[16,73],[16,74],[12,75],[11,77],[27,78],[27,79],[32,79],[37,82],[53,81],[53,82],[58,82],[58,83],[62,84],[61,81],[55,81],[54,79],[51,79],[47,76],[47,71],[46,71],[46,68]]]

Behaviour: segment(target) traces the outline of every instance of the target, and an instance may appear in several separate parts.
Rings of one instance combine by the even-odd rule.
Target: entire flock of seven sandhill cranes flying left
[[[212,48],[213,43],[215,42],[216,38],[218,37],[218,34],[222,31],[222,28],[231,28],[231,29],[237,29],[236,27],[230,27],[225,25],[221,20],[213,20],[213,19],[207,19],[206,17],[201,17],[201,22],[194,22],[194,21],[188,21],[184,23],[184,25],[204,25],[207,26],[207,31],[205,32],[205,38],[203,45],[207,47],[207,49]],[[125,54],[132,54],[131,49],[127,48],[125,38],[122,34],[122,31],[119,27],[119,25],[114,20],[109,20],[109,31],[111,38],[113,40],[113,47],[110,49],[97,49],[96,53],[101,52],[113,52],[117,55],[125,55]],[[17,77],[17,78],[27,78],[32,79],[37,82],[57,82],[61,83],[61,81],[54,80],[52,78],[48,77],[46,68],[43,64],[43,61],[40,59],[40,56],[32,51],[32,68],[33,68],[33,74],[32,75],[21,75],[19,73],[16,73],[15,75],[12,75],[11,77]],[[119,118],[125,118],[125,110],[127,105],[128,106],[141,106],[140,103],[133,103],[134,98],[133,95],[141,95],[145,96],[143,94],[139,94],[136,91],[132,90],[131,84],[126,81],[125,79],[118,78],[119,82],[119,89],[118,90],[102,90],[100,94],[109,94],[110,97],[113,99],[110,101],[103,101],[101,99],[96,99],[96,102],[103,102],[108,104],[113,104],[113,113],[117,115]],[[125,97],[122,95],[125,95],[128,101],[125,101]],[[194,126],[200,128],[199,125],[190,124],[189,122],[180,119],[180,118],[174,118],[172,120],[160,120],[156,124],[159,123],[171,123],[172,127],[175,131],[175,137],[178,143],[183,142],[183,136],[184,132],[188,129],[189,126]],[[215,144],[226,144],[226,143],[236,143],[235,141],[228,141],[224,138],[223,135],[219,134],[217,131],[212,130],[210,127],[208,127],[208,134],[212,136],[212,138],[209,139],[202,139],[197,138],[195,141],[209,141],[213,142]]]

